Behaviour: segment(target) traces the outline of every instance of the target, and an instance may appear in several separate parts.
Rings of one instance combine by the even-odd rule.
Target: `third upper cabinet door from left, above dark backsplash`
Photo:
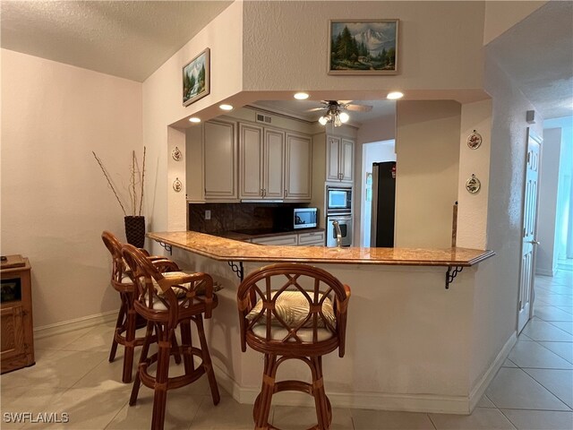
[[[285,197],[285,133],[270,128],[264,130],[263,180],[265,199]]]

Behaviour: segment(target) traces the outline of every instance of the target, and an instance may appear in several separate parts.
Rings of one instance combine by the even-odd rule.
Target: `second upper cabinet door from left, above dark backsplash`
[[[261,199],[263,143],[262,127],[239,124],[239,197]]]

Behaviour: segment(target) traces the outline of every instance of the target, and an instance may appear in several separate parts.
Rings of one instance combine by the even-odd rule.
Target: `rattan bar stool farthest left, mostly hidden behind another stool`
[[[117,352],[117,345],[124,347],[124,369],[122,372],[122,382],[131,383],[133,374],[133,355],[135,347],[143,345],[144,337],[136,337],[135,332],[138,325],[145,326],[145,320],[141,320],[143,324],[138,321],[137,313],[133,308],[133,299],[135,286],[132,279],[129,277],[129,270],[124,258],[122,257],[122,243],[111,232],[104,231],[101,234],[101,239],[107,247],[107,250],[112,256],[112,271],[111,271],[111,285],[119,293],[122,303],[117,314],[117,321],[115,322],[114,339],[109,351],[109,362],[115,360],[115,353]],[[142,250],[142,252],[145,252]],[[179,271],[179,267],[175,262],[168,260],[165,257],[149,256],[150,259],[160,271]],[[174,340],[176,347],[176,341]],[[177,362],[181,362],[181,358],[177,357]]]

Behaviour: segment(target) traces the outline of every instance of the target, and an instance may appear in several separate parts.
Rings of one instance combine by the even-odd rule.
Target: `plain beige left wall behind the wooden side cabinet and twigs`
[[[141,157],[141,83],[2,50],[2,254],[30,257],[34,326],[114,311],[109,229]],[[153,165],[153,159],[148,159]]]

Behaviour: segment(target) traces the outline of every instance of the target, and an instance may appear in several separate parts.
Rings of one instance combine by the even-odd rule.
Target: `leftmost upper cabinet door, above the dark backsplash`
[[[210,201],[238,199],[235,123],[208,121],[203,128],[204,197]]]

